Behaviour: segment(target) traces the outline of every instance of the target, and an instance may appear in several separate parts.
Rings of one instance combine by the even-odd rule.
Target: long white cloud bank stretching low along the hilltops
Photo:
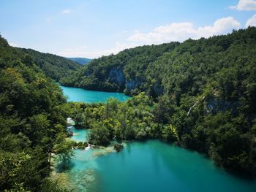
[[[201,37],[211,37],[213,35],[227,34],[233,29],[241,28],[232,17],[220,18],[210,26],[201,26],[196,28],[193,23],[170,23],[165,26],[158,26],[148,33],[135,31],[124,42],[116,42],[113,47],[103,50],[90,50],[86,45],[80,47],[72,47],[63,50],[58,55],[65,57],[86,57],[98,58],[102,55],[116,54],[121,50],[137,47],[140,45],[161,44],[164,42],[178,41],[183,42],[186,39],[200,39]]]

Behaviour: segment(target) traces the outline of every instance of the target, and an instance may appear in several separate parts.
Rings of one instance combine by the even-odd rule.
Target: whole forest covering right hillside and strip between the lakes
[[[82,106],[80,118],[86,117],[82,122],[92,128],[95,144],[107,145],[113,137],[162,138],[255,177],[255,77],[256,28],[249,27],[124,50],[91,61],[61,83],[139,94],[126,104]]]

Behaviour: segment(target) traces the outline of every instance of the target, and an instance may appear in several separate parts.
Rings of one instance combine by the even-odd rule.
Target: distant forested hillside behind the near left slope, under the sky
[[[2,57],[7,56],[2,55]],[[15,57],[23,58],[23,61],[30,60],[29,62],[37,64],[48,77],[56,81],[80,69],[80,64],[70,61],[67,58],[50,53],[40,53],[31,49],[12,47],[12,49],[10,49],[9,58],[12,59]]]

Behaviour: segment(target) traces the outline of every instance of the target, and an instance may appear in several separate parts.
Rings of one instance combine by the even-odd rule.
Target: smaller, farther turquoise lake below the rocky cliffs
[[[82,88],[69,88],[60,86],[64,95],[68,96],[67,101],[78,101],[86,103],[105,102],[108,98],[114,97],[119,101],[126,101],[129,96],[124,93],[89,91]]]

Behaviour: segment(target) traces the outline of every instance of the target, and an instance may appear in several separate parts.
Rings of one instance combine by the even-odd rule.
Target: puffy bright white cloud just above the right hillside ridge
[[[163,42],[178,41],[183,42],[185,39],[200,39],[200,37],[211,37],[213,35],[227,34],[233,29],[241,28],[232,17],[220,18],[212,26],[203,26],[195,28],[193,23],[171,23],[165,26],[158,26],[149,33],[135,31],[128,38],[130,42],[137,42],[140,45],[160,44]]]

